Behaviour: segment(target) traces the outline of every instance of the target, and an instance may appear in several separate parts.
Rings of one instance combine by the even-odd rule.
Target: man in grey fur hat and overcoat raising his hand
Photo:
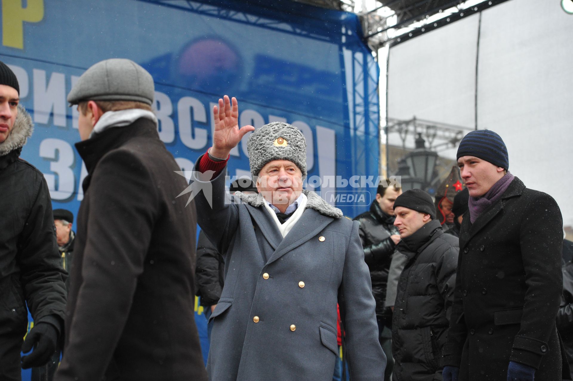
[[[213,113],[213,147],[192,178],[203,189],[195,198],[199,225],[225,258],[225,286],[210,317],[210,379],[332,380],[338,303],[352,380],[382,380],[386,357],[359,224],[303,190],[304,135],[281,122],[257,129],[248,151],[260,193],[230,196],[229,152],[254,127],[238,127],[234,98],[232,107],[229,97],[219,99]]]

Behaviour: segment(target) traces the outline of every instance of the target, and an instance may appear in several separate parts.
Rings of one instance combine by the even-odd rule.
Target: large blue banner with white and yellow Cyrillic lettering
[[[303,131],[309,188],[350,217],[372,201],[378,66],[356,15],[291,1],[4,1],[0,60],[35,124],[22,158],[44,173],[54,209],[77,213],[87,175],[66,95],[112,57],[154,77],[160,139],[182,170],[211,146],[213,105],[227,94],[241,125],[286,121]],[[250,175],[247,139],[231,152],[231,176]],[[198,304],[197,315],[204,327]]]

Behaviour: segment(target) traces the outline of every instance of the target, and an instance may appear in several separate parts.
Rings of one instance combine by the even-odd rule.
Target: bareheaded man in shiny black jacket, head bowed
[[[370,210],[355,218],[360,223],[358,233],[364,249],[364,261],[370,269],[372,294],[376,300],[378,339],[387,359],[385,379],[390,379],[394,362],[391,341],[392,311],[384,305],[384,301],[388,268],[390,268],[394,248],[400,241],[398,229],[394,226],[393,207],[394,201],[401,194],[401,188],[380,184]]]

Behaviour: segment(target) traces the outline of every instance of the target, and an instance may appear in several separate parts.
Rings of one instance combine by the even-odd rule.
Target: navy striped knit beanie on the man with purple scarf
[[[462,156],[475,156],[506,171],[509,169],[505,143],[497,133],[488,129],[478,129],[464,136],[458,147],[456,160]]]

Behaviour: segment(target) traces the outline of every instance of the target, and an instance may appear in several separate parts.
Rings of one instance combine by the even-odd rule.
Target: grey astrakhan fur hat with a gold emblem
[[[272,160],[289,160],[307,175],[307,140],[295,126],[274,121],[257,128],[247,143],[253,178]]]

